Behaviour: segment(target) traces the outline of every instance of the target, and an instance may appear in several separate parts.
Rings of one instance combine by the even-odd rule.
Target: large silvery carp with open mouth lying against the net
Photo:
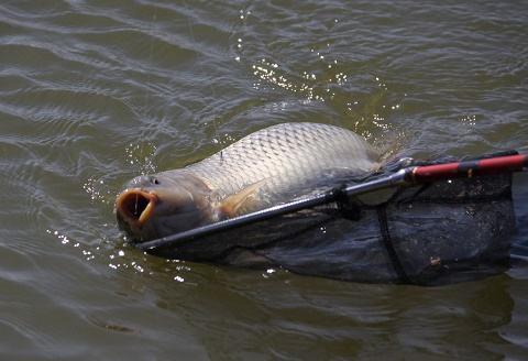
[[[128,240],[145,242],[321,192],[378,162],[348,129],[280,123],[183,168],[133,178],[116,200],[118,226]]]

